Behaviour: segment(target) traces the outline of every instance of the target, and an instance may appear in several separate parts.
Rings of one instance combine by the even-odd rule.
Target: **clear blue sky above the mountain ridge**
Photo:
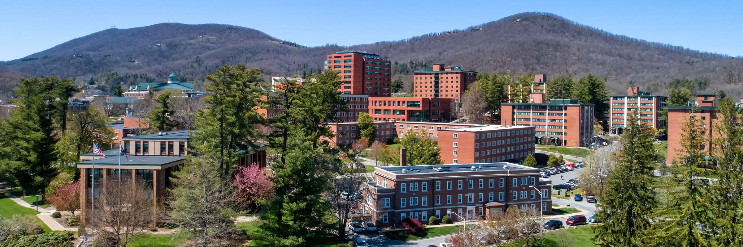
[[[652,42],[743,56],[743,1],[4,1],[0,61],[111,26],[234,24],[301,45],[406,39],[548,12]]]

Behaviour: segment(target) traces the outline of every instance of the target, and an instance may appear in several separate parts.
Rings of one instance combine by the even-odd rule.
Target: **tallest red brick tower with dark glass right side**
[[[389,58],[360,50],[343,50],[329,54],[325,67],[337,70],[343,85],[338,92],[343,94],[366,94],[373,97],[389,97],[391,65]]]

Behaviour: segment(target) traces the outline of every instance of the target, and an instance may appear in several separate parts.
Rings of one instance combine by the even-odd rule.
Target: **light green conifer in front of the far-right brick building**
[[[663,189],[668,196],[666,205],[658,208],[652,229],[645,240],[654,246],[711,246],[709,223],[713,223],[710,205],[710,188],[707,179],[701,178],[707,163],[704,143],[708,142],[701,120],[693,113],[698,112],[692,106],[689,119],[684,122],[686,132],[681,134],[681,148],[684,157],[670,168],[671,176],[664,178]],[[676,163],[676,161],[673,161]],[[701,225],[700,225],[701,224]]]

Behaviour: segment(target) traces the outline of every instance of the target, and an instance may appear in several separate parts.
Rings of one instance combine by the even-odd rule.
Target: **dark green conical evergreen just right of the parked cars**
[[[597,227],[600,246],[643,246],[639,236],[651,226],[651,212],[656,207],[653,184],[655,130],[640,122],[640,109],[627,119],[622,134],[622,150],[617,166],[607,177],[607,192],[599,202],[596,217],[604,224]]]

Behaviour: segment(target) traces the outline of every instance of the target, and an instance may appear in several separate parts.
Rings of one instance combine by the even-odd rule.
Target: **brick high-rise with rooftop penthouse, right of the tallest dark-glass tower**
[[[446,67],[435,64],[424,71],[413,72],[413,96],[426,98],[454,99],[464,98],[467,85],[475,82],[477,72],[462,70],[461,66]]]

